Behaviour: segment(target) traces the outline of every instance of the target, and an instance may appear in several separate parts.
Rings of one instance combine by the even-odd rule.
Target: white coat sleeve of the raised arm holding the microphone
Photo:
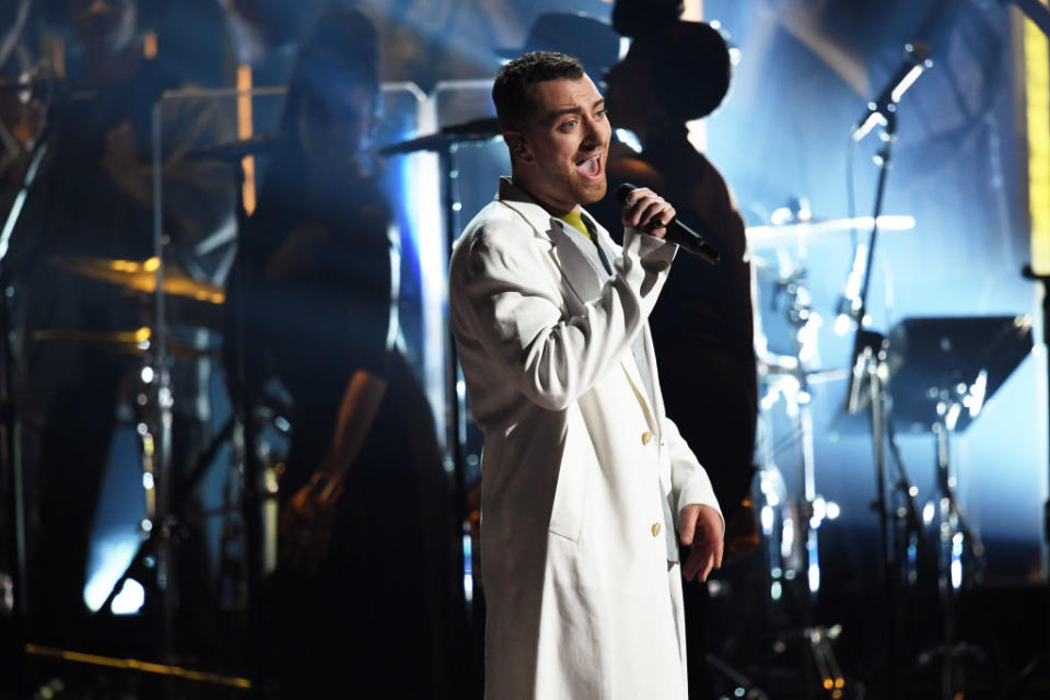
[[[493,222],[454,256],[450,306],[457,338],[479,343],[529,400],[562,410],[619,360],[641,331],[677,246],[628,229],[616,273],[582,314],[568,316],[532,230]],[[530,246],[530,247],[529,247]]]

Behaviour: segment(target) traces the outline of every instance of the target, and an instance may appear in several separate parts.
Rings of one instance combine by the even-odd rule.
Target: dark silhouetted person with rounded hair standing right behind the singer
[[[618,3],[614,13],[623,31],[632,9],[621,4],[633,3]],[[612,125],[632,131],[642,147],[638,153],[622,144],[610,150],[609,189],[631,183],[667,197],[721,254],[711,267],[679,252],[650,323],[667,415],[711,476],[732,557],[743,541],[754,541],[754,513],[746,505],[758,416],[750,270],[733,194],[689,142],[686,125],[724,98],[728,49],[702,23],[673,20],[644,30],[606,73]],[[599,220],[612,221],[617,209],[607,199]],[[700,652],[707,592],[687,586],[685,596],[690,697],[703,697],[710,692]]]

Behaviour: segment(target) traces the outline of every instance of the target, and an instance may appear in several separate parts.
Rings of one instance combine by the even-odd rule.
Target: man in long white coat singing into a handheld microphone
[[[485,433],[486,697],[684,700],[681,576],[721,564],[724,524],[664,415],[646,326],[675,210],[631,192],[622,248],[583,210],[606,191],[610,127],[576,59],[526,54],[492,100],[512,177],[450,271]],[[676,529],[691,547],[680,567]]]

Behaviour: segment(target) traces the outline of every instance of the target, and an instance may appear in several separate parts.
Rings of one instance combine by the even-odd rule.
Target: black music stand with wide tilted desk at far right
[[[954,603],[964,581],[964,544],[969,545],[978,567],[982,557],[982,546],[969,527],[956,494],[952,436],[973,422],[1031,348],[1031,319],[1027,316],[906,318],[894,326],[887,337],[871,331],[858,335],[856,362],[847,402],[849,412],[873,409],[873,440],[879,471],[877,503],[886,505],[883,430],[891,443],[895,430],[929,432],[936,441],[937,587],[944,625],[944,640],[938,649],[945,655],[942,692],[948,698],[961,687]],[[902,486],[908,490],[909,524],[914,527],[918,518],[913,497],[907,481]],[[885,521],[885,511],[880,517]],[[886,547],[887,542],[883,540],[883,545]],[[888,596],[896,600],[891,583],[894,561],[888,548],[884,548],[883,553]]]

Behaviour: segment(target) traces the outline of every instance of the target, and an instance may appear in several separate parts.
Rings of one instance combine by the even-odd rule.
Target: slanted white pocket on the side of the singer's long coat
[[[590,475],[597,464],[597,457],[580,407],[573,404],[567,412],[558,486],[555,488],[548,529],[553,535],[575,542],[583,530]]]

